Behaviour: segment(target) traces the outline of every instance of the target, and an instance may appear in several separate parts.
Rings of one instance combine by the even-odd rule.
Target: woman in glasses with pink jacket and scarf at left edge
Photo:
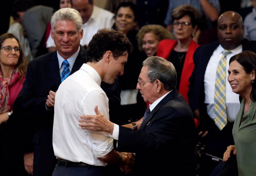
[[[27,70],[19,40],[11,33],[0,36],[0,124],[12,113]]]

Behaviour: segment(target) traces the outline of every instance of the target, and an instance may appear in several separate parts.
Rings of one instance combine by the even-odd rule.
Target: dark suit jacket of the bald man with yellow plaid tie
[[[206,104],[204,104],[204,74],[210,57],[219,44],[219,41],[215,41],[213,43],[200,46],[195,51],[193,55],[195,67],[189,79],[190,85],[188,91],[188,102],[193,112],[194,110],[199,109],[200,126],[203,127],[204,130],[209,131],[209,137],[214,137],[216,139],[214,139],[215,141],[212,141],[213,144],[211,144],[211,146],[216,145],[217,143],[220,144],[217,146],[219,147],[218,152],[213,152],[213,150],[208,152],[213,152],[211,153],[212,155],[222,157],[223,153],[226,151],[227,145],[231,145],[233,143],[232,126],[227,126],[227,128],[224,127],[224,129],[220,131],[216,127],[214,121],[207,114]],[[247,39],[244,39],[242,45],[243,51],[250,50],[256,52],[256,41],[248,41]]]

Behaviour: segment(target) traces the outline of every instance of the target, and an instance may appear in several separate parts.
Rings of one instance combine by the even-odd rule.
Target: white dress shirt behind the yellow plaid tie
[[[207,113],[214,120],[214,93],[215,93],[215,80],[217,67],[220,62],[220,59],[223,55],[223,47],[219,45],[213,52],[208,65],[206,67],[206,72],[204,74],[204,93],[205,99],[204,103],[207,104]],[[226,108],[227,108],[227,120],[228,122],[234,122],[236,119],[236,114],[240,108],[239,94],[236,94],[232,91],[229,82],[227,81],[228,69],[229,69],[229,60],[230,57],[235,54],[242,52],[242,45],[239,45],[233,50],[230,50],[232,53],[227,55],[227,66],[226,66]]]

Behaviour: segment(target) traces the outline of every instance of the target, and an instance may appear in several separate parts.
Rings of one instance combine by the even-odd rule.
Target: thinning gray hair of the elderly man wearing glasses
[[[173,90],[177,85],[177,73],[173,64],[163,57],[150,56],[142,63],[148,66],[150,80],[160,80],[165,90]]]

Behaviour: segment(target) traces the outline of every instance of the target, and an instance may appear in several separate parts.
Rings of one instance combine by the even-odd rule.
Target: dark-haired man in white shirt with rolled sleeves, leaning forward
[[[95,176],[106,163],[118,163],[125,169],[124,163],[132,162],[127,153],[115,152],[108,133],[83,130],[78,125],[79,116],[95,114],[96,105],[109,119],[108,97],[101,81],[113,84],[123,74],[131,50],[123,33],[99,30],[88,45],[87,63],[60,84],[54,106],[53,150],[58,162],[53,176]]]

